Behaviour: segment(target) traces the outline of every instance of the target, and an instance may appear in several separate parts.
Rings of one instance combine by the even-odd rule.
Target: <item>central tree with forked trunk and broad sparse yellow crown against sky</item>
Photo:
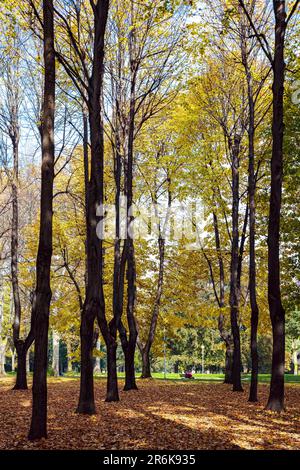
[[[175,96],[178,80],[176,74],[179,73],[175,61],[179,55],[177,46],[182,38],[182,25],[178,17],[183,17],[183,13],[176,5],[174,8],[170,5],[162,6],[160,1],[135,4],[130,0],[116,2],[110,25],[109,43],[113,53],[110,53],[107,61],[110,71],[107,95],[113,109],[112,112],[108,110],[106,118],[111,129],[109,139],[114,157],[116,187],[113,310],[115,318],[121,319],[119,333],[125,356],[125,390],[136,388],[136,262],[134,240],[130,230],[134,225],[132,203],[135,165],[138,164],[135,148],[146,123],[170,104]],[[122,189],[127,200],[127,228],[123,246],[119,226]],[[127,296],[124,287],[125,274]],[[124,321],[122,312],[126,297]]]

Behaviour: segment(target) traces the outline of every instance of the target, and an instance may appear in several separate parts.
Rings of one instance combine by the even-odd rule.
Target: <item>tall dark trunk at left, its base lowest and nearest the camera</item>
[[[42,112],[42,168],[40,233],[36,261],[36,290],[32,309],[35,317],[35,351],[32,387],[32,417],[28,438],[47,437],[47,363],[51,302],[52,217],[54,181],[55,52],[53,0],[43,2],[44,99]]]

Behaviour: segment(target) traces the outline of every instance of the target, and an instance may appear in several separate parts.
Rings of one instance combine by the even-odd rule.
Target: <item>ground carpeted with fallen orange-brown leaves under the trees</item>
[[[48,439],[31,443],[31,390],[12,384],[12,377],[0,379],[0,449],[300,449],[299,385],[286,386],[287,411],[274,414],[264,410],[264,384],[257,404],[247,402],[248,384],[233,393],[220,383],[162,380],[139,380],[139,391],[105,403],[101,380],[97,414],[83,416],[74,411],[78,379],[49,378]]]

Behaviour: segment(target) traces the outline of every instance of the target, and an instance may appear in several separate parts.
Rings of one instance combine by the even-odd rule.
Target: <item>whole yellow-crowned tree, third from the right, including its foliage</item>
[[[200,80],[198,80],[198,87],[195,87],[195,93],[197,99],[204,100],[206,104],[205,113],[209,114],[209,128],[213,128],[213,123],[216,123],[221,131],[221,137],[219,137],[220,140],[218,143],[213,143],[213,145],[211,145],[209,137],[207,144],[205,143],[207,123],[204,123],[201,129],[203,132],[202,139],[204,140],[204,146],[206,148],[211,148],[212,150],[212,152],[209,153],[204,159],[204,166],[206,171],[208,169],[212,174],[213,187],[215,188],[211,199],[215,201],[217,195],[221,199],[220,206],[227,208],[229,205],[231,209],[231,227],[227,218],[228,216],[224,211],[223,216],[225,217],[226,229],[230,242],[229,304],[231,332],[234,346],[232,381],[234,391],[241,391],[239,305],[241,295],[240,284],[242,274],[242,260],[248,221],[247,204],[244,206],[242,223],[240,220],[240,206],[243,194],[243,191],[240,187],[241,182],[243,183],[243,180],[240,181],[240,166],[244,151],[243,139],[246,121],[244,83],[241,81],[240,72],[235,71],[234,73],[230,67],[229,61],[226,61],[225,64],[222,64],[222,62],[219,60],[215,63],[210,62],[209,71],[209,73],[206,73]],[[224,88],[223,80],[225,77],[227,82],[231,83],[229,93],[227,92],[227,89]],[[217,88],[215,85],[216,81],[218,84]],[[237,89],[239,89],[239,92],[237,92]],[[227,196],[226,203],[225,201],[222,201],[222,191],[218,190],[219,182],[217,181],[217,177],[212,173],[212,170],[215,171],[215,167],[218,168],[220,166],[219,160],[215,159],[216,162],[214,162],[213,158],[213,155],[215,155],[215,149],[218,150],[219,147],[221,152],[224,152],[225,159],[230,168],[230,174],[226,174],[226,181],[228,182],[230,191]],[[225,171],[222,169],[223,165],[224,163],[221,163],[221,172],[225,174]],[[215,206],[215,202],[213,206]],[[215,207],[213,210],[216,212]]]

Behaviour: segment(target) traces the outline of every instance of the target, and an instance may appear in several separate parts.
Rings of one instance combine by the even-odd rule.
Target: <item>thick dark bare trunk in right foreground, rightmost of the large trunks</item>
[[[273,0],[275,48],[273,60],[273,123],[271,195],[268,227],[268,301],[273,332],[272,377],[267,409],[284,409],[285,311],[280,291],[280,211],[283,167],[284,45],[286,32],[285,1]]]

